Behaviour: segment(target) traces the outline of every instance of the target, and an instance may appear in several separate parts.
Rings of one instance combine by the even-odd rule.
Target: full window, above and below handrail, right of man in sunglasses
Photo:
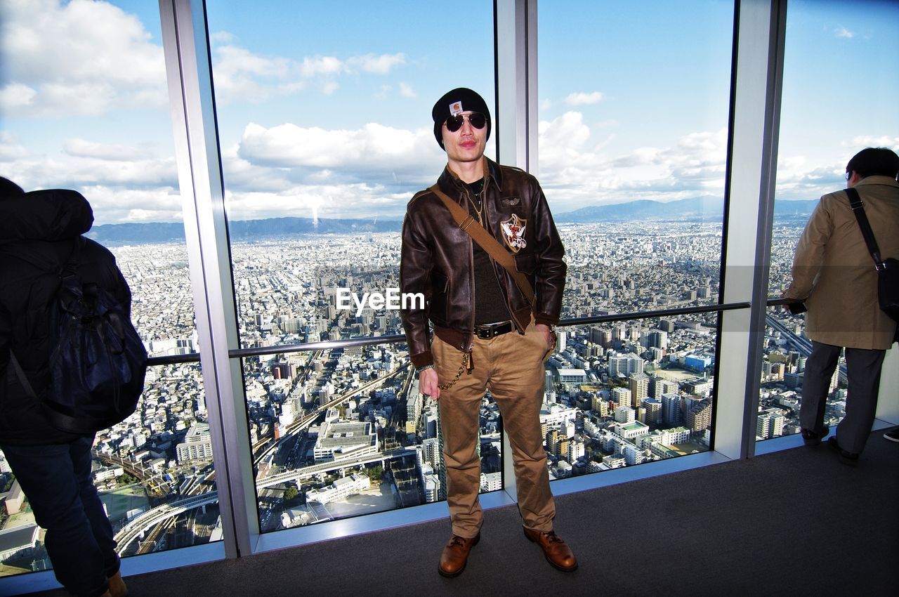
[[[733,21],[714,0],[541,4],[539,180],[565,242],[563,317],[718,302]],[[553,474],[708,450],[716,330],[715,313],[565,328],[541,414]]]

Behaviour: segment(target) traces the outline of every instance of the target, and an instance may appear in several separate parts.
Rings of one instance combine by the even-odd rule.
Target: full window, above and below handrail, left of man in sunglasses
[[[354,298],[398,290],[405,204],[446,165],[433,102],[466,86],[495,103],[493,3],[453,4],[464,59],[434,42],[441,4],[207,4],[241,344],[402,334],[391,304]],[[443,499],[436,408],[404,343],[243,366],[263,530]]]

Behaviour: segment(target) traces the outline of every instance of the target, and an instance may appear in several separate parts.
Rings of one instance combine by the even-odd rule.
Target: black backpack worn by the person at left
[[[147,349],[128,309],[97,284],[78,278],[84,238],[59,272],[49,305],[50,382],[38,397],[10,352],[22,388],[40,402],[49,423],[89,434],[121,423],[137,408],[147,373]]]

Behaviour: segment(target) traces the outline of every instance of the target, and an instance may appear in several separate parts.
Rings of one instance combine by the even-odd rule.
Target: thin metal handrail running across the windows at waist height
[[[777,298],[769,299],[768,305],[782,305],[789,302],[787,299]],[[632,311],[630,313],[615,313],[608,315],[590,316],[590,317],[573,317],[570,319],[562,319],[558,323],[558,327],[567,327],[574,325],[591,325],[603,324],[612,321],[628,321],[631,319],[649,319],[651,317],[666,317],[677,315],[690,315],[693,313],[717,313],[721,311],[732,311],[734,309],[745,309],[752,307],[752,303],[748,301],[738,303],[719,303],[717,305],[703,305],[699,307],[679,307],[672,309],[660,309],[658,311]],[[304,351],[321,351],[333,348],[348,348],[351,346],[369,346],[375,344],[390,344],[404,342],[405,335],[391,334],[386,336],[364,336],[360,338],[351,338],[348,340],[325,340],[323,342],[307,342],[299,344],[279,344],[277,346],[256,346],[254,348],[236,348],[227,352],[228,357],[232,359],[240,359],[243,357],[264,356],[267,354],[285,354],[289,352]],[[189,352],[187,354],[173,354],[165,357],[150,357],[148,365],[150,367],[158,365],[174,365],[183,362],[199,362],[200,352]]]

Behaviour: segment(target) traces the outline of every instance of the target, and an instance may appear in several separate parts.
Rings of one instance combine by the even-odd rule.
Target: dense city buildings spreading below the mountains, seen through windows
[[[719,229],[677,221],[560,227],[569,263],[563,317],[715,302]],[[782,236],[772,268],[781,273],[790,242]],[[125,245],[114,251],[152,355],[196,352],[183,248]],[[335,300],[337,288],[362,294],[396,287],[398,251],[396,233],[232,245],[241,342],[269,346],[401,334],[396,310],[357,313],[338,309]],[[770,328],[766,339],[760,439],[795,431],[793,389],[801,382],[805,353],[791,343],[801,334],[801,320],[784,321],[786,331]],[[565,342],[547,362],[540,415],[552,477],[708,450],[716,327],[714,314],[701,314],[560,330]],[[244,360],[263,530],[353,515],[361,512],[355,503],[363,493],[378,509],[445,498],[437,410],[418,393],[404,349],[386,343]],[[119,472],[103,479],[106,499],[122,491],[147,496],[118,517],[111,512],[113,523],[123,533],[130,520],[158,503],[210,495],[204,524],[191,539],[177,525],[156,534],[166,542],[208,540],[217,512],[199,366],[155,367],[147,379],[138,411],[96,444],[105,464],[117,467],[111,474]],[[840,404],[832,416],[841,414]],[[487,397],[482,491],[502,483],[498,428],[498,409]],[[133,553],[142,547],[122,548]]]

